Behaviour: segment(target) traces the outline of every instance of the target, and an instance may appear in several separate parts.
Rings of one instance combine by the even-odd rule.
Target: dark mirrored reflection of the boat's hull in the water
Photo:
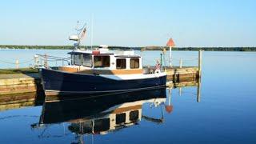
[[[58,102],[45,102],[42,109],[42,123],[59,123],[76,119],[104,117],[110,114],[111,107],[126,102],[145,101],[151,98],[166,98],[166,89],[141,90],[122,94],[106,94],[107,97],[81,95],[72,98],[62,97]],[[107,112],[108,111],[108,112]]]

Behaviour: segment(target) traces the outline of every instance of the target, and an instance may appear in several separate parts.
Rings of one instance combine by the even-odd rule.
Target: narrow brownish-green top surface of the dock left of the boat
[[[30,74],[38,73],[38,70],[32,68],[20,68],[20,69],[0,69],[0,74]]]

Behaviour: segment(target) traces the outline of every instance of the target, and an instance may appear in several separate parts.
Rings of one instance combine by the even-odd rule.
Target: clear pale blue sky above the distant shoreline
[[[8,0],[0,7],[0,44],[72,45],[79,20],[94,45],[256,46],[254,0]]]

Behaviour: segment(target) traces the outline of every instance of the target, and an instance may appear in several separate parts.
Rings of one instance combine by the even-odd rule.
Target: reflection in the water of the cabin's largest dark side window
[[[110,118],[97,119],[94,121],[94,132],[106,131],[110,129]]]

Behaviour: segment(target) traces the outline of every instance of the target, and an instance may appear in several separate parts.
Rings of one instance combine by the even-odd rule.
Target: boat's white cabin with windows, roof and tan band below
[[[98,74],[142,74],[142,57],[134,50],[111,52],[107,47],[96,50],[73,50],[71,65],[60,66],[58,70]]]

